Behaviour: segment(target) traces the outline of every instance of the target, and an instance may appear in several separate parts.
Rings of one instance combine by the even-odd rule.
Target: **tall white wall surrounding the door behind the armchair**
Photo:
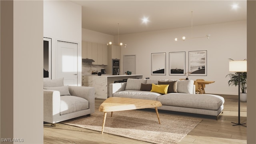
[[[78,43],[78,85],[80,86],[82,6],[66,0],[44,0],[44,37],[52,38],[52,79],[56,78],[57,40]]]

